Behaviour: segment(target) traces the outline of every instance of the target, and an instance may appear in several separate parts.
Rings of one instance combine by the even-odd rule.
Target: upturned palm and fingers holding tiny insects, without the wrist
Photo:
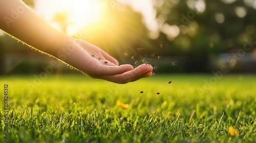
[[[118,61],[99,47],[79,39],[80,46],[87,52],[84,66],[86,74],[92,78],[104,79],[115,83],[127,83],[152,76],[152,66],[142,64],[133,68],[130,64],[120,65]]]

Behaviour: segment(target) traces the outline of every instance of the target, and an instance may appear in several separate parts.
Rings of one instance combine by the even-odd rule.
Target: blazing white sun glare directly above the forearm
[[[65,24],[58,23],[58,25],[66,25],[65,30],[69,35],[73,35],[80,29],[99,21],[103,8],[104,3],[99,0],[53,0],[49,2],[37,0],[35,7],[36,11],[45,19],[55,22],[53,25],[56,25],[60,20],[65,21]],[[62,17],[58,17],[58,14]]]

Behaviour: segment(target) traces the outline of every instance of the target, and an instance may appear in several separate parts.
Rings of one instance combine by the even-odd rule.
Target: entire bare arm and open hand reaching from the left
[[[119,65],[99,47],[57,31],[19,0],[0,0],[0,29],[92,78],[123,84],[152,76],[151,65]]]

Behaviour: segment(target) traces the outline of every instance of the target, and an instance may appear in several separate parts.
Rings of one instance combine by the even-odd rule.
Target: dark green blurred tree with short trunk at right
[[[172,49],[165,53],[185,55],[186,71],[209,71],[210,55],[231,52],[237,47],[243,48],[245,39],[255,38],[255,32],[250,31],[255,29],[255,9],[246,5],[245,1],[230,4],[224,0],[162,2],[161,5],[156,5],[157,18],[166,17],[162,20],[162,25],[176,25],[180,30],[179,35],[168,43],[172,45]],[[250,29],[247,31],[251,33],[246,33],[246,29]],[[163,40],[164,37],[159,39]]]

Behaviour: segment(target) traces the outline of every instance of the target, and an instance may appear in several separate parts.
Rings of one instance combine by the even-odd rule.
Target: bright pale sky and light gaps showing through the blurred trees
[[[171,0],[172,3],[177,3],[179,0]],[[187,5],[198,12],[205,10],[206,0],[187,0]],[[230,4],[237,0],[221,0],[224,3]],[[104,2],[104,3],[103,3]],[[149,30],[148,36],[152,39],[156,39],[159,36],[159,32],[163,32],[167,35],[169,40],[173,40],[181,32],[178,26],[168,25],[163,23],[164,16],[160,20],[156,18],[156,10],[154,4],[162,5],[163,1],[156,0],[35,0],[35,11],[42,18],[46,19],[50,24],[58,30],[61,30],[58,22],[53,22],[53,16],[56,13],[69,13],[68,15],[68,28],[67,33],[73,35],[82,28],[97,22],[102,16],[102,9],[105,5],[115,5],[118,7],[120,4],[130,5],[132,8],[143,15],[142,21]],[[120,4],[119,4],[120,3]],[[244,0],[244,3],[256,9],[256,0]],[[244,7],[237,7],[235,9],[236,14],[239,17],[244,17],[247,11]],[[222,13],[215,13],[216,21],[219,23],[224,22],[225,16]],[[160,21],[160,22],[159,22]],[[162,23],[161,23],[162,21]],[[0,31],[0,36],[4,35]]]

